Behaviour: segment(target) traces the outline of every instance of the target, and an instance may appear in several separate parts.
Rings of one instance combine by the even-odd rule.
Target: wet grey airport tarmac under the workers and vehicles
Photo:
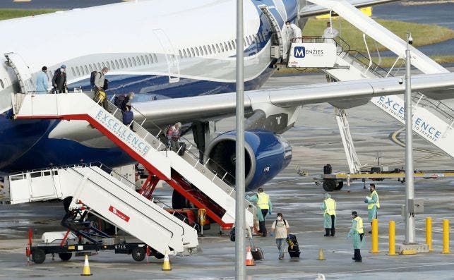
[[[309,82],[307,82],[309,80]],[[325,81],[324,75],[274,76],[264,88],[282,87],[295,83],[318,83]],[[402,128],[393,118],[386,116],[372,104],[366,104],[347,111],[354,145],[362,164],[376,165],[376,152],[381,152],[381,164],[402,167],[405,162],[405,149],[396,144],[390,135]],[[229,130],[234,126],[233,118],[217,124],[219,130]],[[312,176],[321,174],[323,165],[330,163],[334,171],[346,171],[347,161],[329,104],[305,106],[295,127],[285,133],[292,145],[291,164],[279,176],[263,188],[273,201],[273,215],[268,217],[268,228],[275,214],[282,212],[289,221],[290,231],[297,235],[301,248],[299,260],[277,260],[277,248],[273,237],[254,238],[256,245],[265,252],[265,260],[248,267],[251,279],[316,279],[318,273],[326,279],[453,279],[454,257],[441,254],[441,220],[454,222],[454,201],[451,197],[454,179],[427,180],[415,182],[416,197],[424,200],[424,214],[416,217],[416,236],[424,242],[426,217],[433,219],[434,252],[429,254],[388,256],[388,221],[396,222],[396,243],[404,238],[404,222],[401,205],[405,199],[405,185],[397,181],[377,182],[381,198],[379,218],[379,248],[381,252],[372,254],[370,234],[366,233],[366,243],[362,250],[363,262],[352,261],[352,245],[346,235],[350,229],[350,212],[357,210],[367,223],[364,197],[369,194],[362,182],[352,182],[350,193],[347,186],[333,192],[337,200],[337,231],[335,237],[323,237],[323,218],[320,210],[323,202],[323,189],[315,185]],[[404,135],[400,135],[402,140]],[[453,159],[417,136],[414,137],[414,166],[416,169],[454,169]],[[306,178],[296,173],[297,168],[309,172]],[[369,183],[369,182],[368,182]],[[155,195],[165,202],[171,200],[169,188],[158,189]],[[0,205],[0,279],[76,279],[83,268],[83,258],[73,257],[61,262],[58,257],[52,260],[47,255],[43,264],[27,264],[25,245],[27,229],[37,229],[37,238],[44,231],[64,229],[59,227],[59,219],[64,210],[59,203],[33,203],[23,205]],[[162,272],[162,260],[151,257],[151,263],[135,262],[131,256],[114,255],[113,252],[100,252],[90,257],[90,269],[94,279],[233,279],[234,243],[225,235],[217,234],[218,227],[205,231],[199,239],[201,251],[186,257],[170,257],[172,271]],[[150,233],[153,234],[153,233]],[[452,246],[451,246],[452,247]],[[317,260],[318,250],[323,248],[326,260]]]

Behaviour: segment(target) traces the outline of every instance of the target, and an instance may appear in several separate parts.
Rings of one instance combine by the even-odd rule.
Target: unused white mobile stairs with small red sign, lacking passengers
[[[11,204],[73,197],[162,254],[196,251],[196,229],[136,192],[102,166],[73,166],[8,176],[6,200]]]

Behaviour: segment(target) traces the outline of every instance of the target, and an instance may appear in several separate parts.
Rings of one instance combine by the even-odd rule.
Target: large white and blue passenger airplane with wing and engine
[[[386,1],[355,1],[355,5]],[[376,95],[402,93],[398,78],[258,90],[273,74],[273,25],[301,27],[306,1],[244,1],[246,90],[246,190],[254,190],[289,164],[292,150],[281,134],[292,128],[303,104],[330,102],[345,109]],[[311,9],[311,16],[325,12]],[[143,126],[159,130],[176,121],[191,124],[198,148],[234,174],[234,131],[213,133],[210,121],[234,115],[236,4],[232,0],[136,1],[0,21],[0,172],[83,162],[108,166],[133,159],[85,121],[11,119],[11,94],[34,90],[42,66],[49,80],[66,65],[68,88],[90,91],[90,73],[110,69],[109,98],[135,92],[133,106]],[[45,29],[45,32],[42,30]],[[9,59],[9,60],[8,60]],[[24,78],[18,80],[13,61]],[[415,89],[445,92],[453,75],[414,77]],[[49,84],[49,88],[51,85]],[[450,95],[452,97],[452,95]],[[212,166],[215,169],[215,166]],[[231,182],[232,184],[234,182]]]

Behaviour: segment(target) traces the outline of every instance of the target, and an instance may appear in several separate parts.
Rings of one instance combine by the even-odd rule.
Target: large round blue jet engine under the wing
[[[236,135],[235,131],[224,133],[215,138],[205,150],[206,156],[213,161],[208,162],[208,167],[221,176],[225,171],[235,176]],[[285,169],[292,159],[292,147],[289,143],[280,135],[265,130],[245,131],[244,150],[246,190],[255,190],[270,181]],[[229,185],[235,184],[232,176],[225,176]]]

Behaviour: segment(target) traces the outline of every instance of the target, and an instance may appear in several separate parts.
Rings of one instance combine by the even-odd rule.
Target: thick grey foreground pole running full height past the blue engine
[[[237,0],[237,142],[235,152],[235,279],[246,278],[244,236],[244,75],[243,0]]]

